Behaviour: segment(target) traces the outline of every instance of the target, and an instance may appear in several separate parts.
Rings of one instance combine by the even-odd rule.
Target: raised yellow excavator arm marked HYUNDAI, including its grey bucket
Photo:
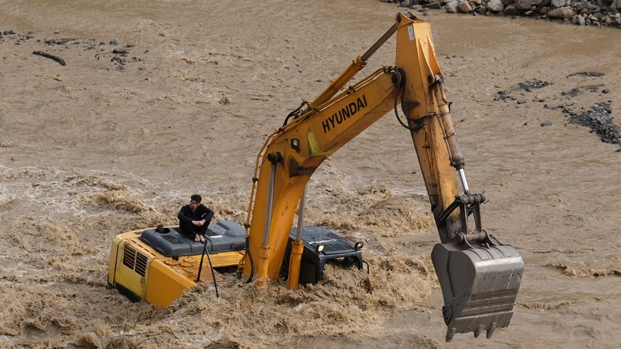
[[[396,65],[374,71],[343,90],[395,33]],[[240,272],[256,274],[260,286],[278,278],[292,221],[298,204],[303,214],[312,173],[369,125],[392,109],[396,113],[400,104],[406,122],[399,122],[412,135],[440,235],[432,261],[445,301],[446,341],[455,333],[474,332],[478,337],[483,330],[490,338],[496,328],[507,327],[524,262],[515,248],[502,245],[481,229],[479,206],[485,198],[468,187],[442,79],[429,23],[400,13],[391,29],[319,97],[290,114],[283,127],[268,136],[256,158],[246,224],[247,253]],[[460,178],[460,188],[456,178]],[[470,218],[473,227],[468,226]],[[298,233],[289,263],[292,288],[297,287],[302,250]]]

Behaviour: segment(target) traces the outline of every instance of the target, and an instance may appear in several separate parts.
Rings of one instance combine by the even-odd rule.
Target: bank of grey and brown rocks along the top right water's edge
[[[381,0],[399,7],[443,9],[473,16],[535,17],[576,25],[621,28],[621,0]]]

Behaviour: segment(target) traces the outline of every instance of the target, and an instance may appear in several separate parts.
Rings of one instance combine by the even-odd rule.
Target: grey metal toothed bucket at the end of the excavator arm
[[[510,245],[465,245],[437,243],[431,255],[444,296],[446,342],[455,333],[479,337],[483,330],[491,338],[495,329],[509,326],[524,271]]]

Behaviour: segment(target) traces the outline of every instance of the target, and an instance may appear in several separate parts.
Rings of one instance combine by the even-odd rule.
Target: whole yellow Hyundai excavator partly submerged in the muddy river
[[[394,34],[395,65],[345,88]],[[214,270],[226,267],[237,267],[237,276],[255,281],[249,287],[258,288],[279,279],[286,279],[289,288],[317,283],[332,260],[348,259],[362,269],[363,242],[352,244],[325,227],[304,225],[307,183],[322,161],[394,111],[412,136],[440,237],[431,258],[443,294],[445,340],[455,333],[479,337],[483,330],[491,338],[494,330],[509,325],[524,261],[517,249],[481,227],[480,206],[486,198],[473,193],[466,181],[442,84],[429,22],[397,13],[369,50],[268,135],[256,156],[243,226],[232,220],[209,222],[205,243],[183,237],[175,226],[121,233],[112,240],[109,286],[132,301],[167,307],[197,284],[213,282],[219,296]],[[212,280],[201,278],[205,255]]]

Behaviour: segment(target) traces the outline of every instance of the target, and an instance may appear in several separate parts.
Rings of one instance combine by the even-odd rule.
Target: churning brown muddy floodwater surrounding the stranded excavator
[[[112,237],[175,224],[189,194],[203,194],[216,219],[243,222],[265,135],[378,39],[397,7],[327,0],[0,4],[0,30],[16,32],[0,39],[0,347],[621,342],[621,153],[563,112],[612,101],[616,115],[619,30],[440,11],[425,17],[469,184],[489,199],[484,228],[519,248],[527,263],[508,329],[491,340],[458,335],[445,343],[428,257],[438,237],[411,139],[391,114],[326,161],[309,188],[307,223],[365,240],[369,275],[330,267],[312,288],[274,284],[265,292],[222,276],[220,299],[212,288],[196,289],[166,310],[131,304],[106,288]],[[43,42],[63,38],[76,40]],[[132,44],[123,71],[111,61],[113,39],[118,48]],[[392,65],[393,45],[366,71]],[[579,71],[604,76],[569,76]],[[519,88],[532,79],[551,84]],[[499,91],[515,99],[494,101]]]

